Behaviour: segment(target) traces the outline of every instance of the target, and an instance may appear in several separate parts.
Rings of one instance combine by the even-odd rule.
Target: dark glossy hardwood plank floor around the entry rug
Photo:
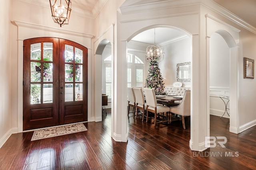
[[[109,110],[108,110],[109,112]],[[171,124],[128,118],[128,142],[111,138],[111,114],[102,122],[84,123],[88,131],[30,141],[33,132],[10,136],[0,149],[0,170],[188,170],[256,169],[256,126],[228,131],[229,119],[210,117],[211,136],[227,138],[226,148],[190,150],[190,117]]]

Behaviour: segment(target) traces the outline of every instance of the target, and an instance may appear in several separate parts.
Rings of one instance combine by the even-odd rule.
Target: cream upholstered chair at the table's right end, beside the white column
[[[190,116],[190,90],[185,91],[184,97],[178,106],[170,107],[170,112],[181,115],[183,128],[186,129],[184,117]],[[171,118],[172,116],[170,115],[170,121]]]

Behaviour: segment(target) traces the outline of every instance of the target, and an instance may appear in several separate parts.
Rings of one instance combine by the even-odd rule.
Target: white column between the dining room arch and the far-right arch
[[[206,56],[200,51],[199,35],[192,35],[192,80],[191,80],[191,116],[190,149],[205,150],[206,119]],[[203,43],[204,44],[204,43]],[[202,45],[201,45],[202,46]],[[205,48],[205,47],[204,47]],[[204,55],[203,55],[204,54]]]

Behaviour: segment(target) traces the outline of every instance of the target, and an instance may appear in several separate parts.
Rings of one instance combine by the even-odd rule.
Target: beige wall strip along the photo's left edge
[[[10,1],[0,6],[0,148],[11,135],[12,128],[12,53],[10,48]]]

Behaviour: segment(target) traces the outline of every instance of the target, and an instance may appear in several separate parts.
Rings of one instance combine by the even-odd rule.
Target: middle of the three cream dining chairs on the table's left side
[[[134,87],[132,88],[135,94],[135,98],[136,98],[136,108],[137,108],[137,114],[136,114],[136,118],[139,115],[139,109],[142,110],[142,121],[144,120],[144,117],[146,116],[145,111],[146,111],[146,103],[145,103],[145,97],[143,94],[143,90],[142,88],[137,88]]]

